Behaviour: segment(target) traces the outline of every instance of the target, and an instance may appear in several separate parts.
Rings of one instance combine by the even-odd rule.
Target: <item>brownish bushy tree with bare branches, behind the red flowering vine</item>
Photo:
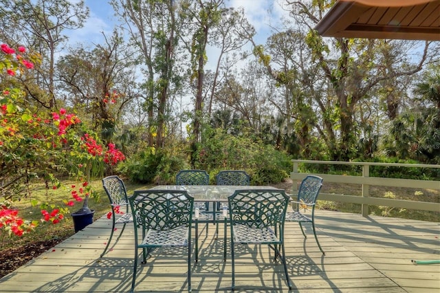
[[[110,39],[104,36],[104,41],[91,51],[71,49],[58,61],[56,76],[65,104],[74,105],[102,140],[112,142],[124,109],[140,94],[133,51],[124,46],[116,30]]]

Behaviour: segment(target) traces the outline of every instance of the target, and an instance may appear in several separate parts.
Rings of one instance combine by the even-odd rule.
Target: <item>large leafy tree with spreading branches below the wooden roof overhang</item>
[[[295,30],[305,35],[311,50],[311,62],[318,65],[322,77],[316,102],[320,109],[325,142],[331,160],[349,160],[355,155],[359,124],[356,114],[362,101],[386,80],[393,84],[401,76],[419,72],[438,56],[433,42],[388,41],[332,38],[325,40],[313,30],[325,10],[334,1],[305,3],[288,1],[292,7]],[[417,58],[408,52],[421,47]],[[403,49],[405,48],[405,49]],[[397,50],[399,49],[399,50]],[[386,63],[384,63],[386,58]],[[386,70],[382,70],[386,64]],[[391,69],[391,66],[393,68]],[[317,85],[314,85],[315,89]],[[391,104],[393,105],[393,104]]]

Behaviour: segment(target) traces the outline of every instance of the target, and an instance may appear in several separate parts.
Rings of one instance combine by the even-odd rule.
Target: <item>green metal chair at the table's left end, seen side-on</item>
[[[133,221],[133,216],[129,213],[129,198],[126,195],[126,188],[124,182],[118,176],[108,176],[102,179],[102,187],[104,187],[105,193],[109,197],[111,213],[112,213],[112,225],[109,240],[107,241],[107,245],[104,248],[104,251],[101,253],[101,257],[107,252],[109,248],[111,238],[113,237],[113,232],[115,231],[115,227],[118,225],[122,225],[122,230],[119,233],[118,241],[124,232],[125,225],[127,223],[131,223]],[[125,212],[121,209],[125,209]],[[125,207],[125,208],[124,208]],[[119,211],[120,213],[116,213]]]

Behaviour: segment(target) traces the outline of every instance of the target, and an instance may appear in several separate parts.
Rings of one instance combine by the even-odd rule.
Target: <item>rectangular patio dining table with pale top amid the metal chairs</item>
[[[150,190],[161,191],[186,191],[188,195],[194,197],[195,202],[195,233],[196,243],[195,250],[198,251],[198,224],[216,224],[215,237],[218,235],[218,226],[220,221],[224,221],[228,217],[228,196],[232,195],[236,190],[256,190],[256,189],[278,189],[273,186],[258,186],[258,185],[157,185]],[[204,210],[200,210],[203,206]],[[224,221],[226,224],[226,221]],[[224,235],[224,245],[226,246],[226,233]],[[225,249],[226,251],[226,249]],[[197,261],[197,253],[196,253]]]

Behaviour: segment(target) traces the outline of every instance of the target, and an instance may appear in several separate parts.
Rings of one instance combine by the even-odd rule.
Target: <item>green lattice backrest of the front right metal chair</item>
[[[284,226],[289,199],[281,189],[237,190],[228,197],[230,223],[252,228]]]

